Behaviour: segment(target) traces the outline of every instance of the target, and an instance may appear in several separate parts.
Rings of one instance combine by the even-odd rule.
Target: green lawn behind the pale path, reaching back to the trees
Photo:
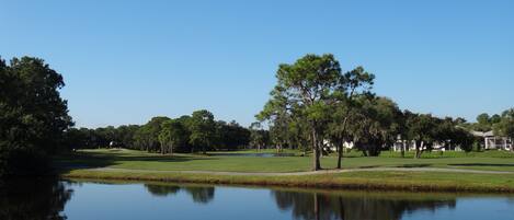
[[[230,152],[250,153],[255,151]],[[265,150],[262,152],[275,152]],[[225,152],[224,152],[225,153]],[[453,157],[431,157],[422,159],[397,158],[389,152],[377,158],[351,157],[343,159],[344,169],[357,167],[456,167],[486,171],[512,171],[514,172],[514,159],[504,157],[488,158],[489,152],[469,154],[464,158],[454,152]],[[458,152],[462,153],[464,152]],[[430,155],[429,153],[426,153]],[[495,155],[495,154],[493,154]],[[336,158],[324,157],[322,166],[332,169],[335,166]],[[73,155],[59,157],[56,166],[59,167],[118,167],[134,170],[153,171],[231,171],[231,172],[299,172],[309,171],[310,157],[233,157],[233,155],[199,155],[199,154],[175,154],[160,155],[134,150],[82,150]]]

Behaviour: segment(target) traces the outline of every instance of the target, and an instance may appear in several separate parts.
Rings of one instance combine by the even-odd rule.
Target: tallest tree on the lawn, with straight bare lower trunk
[[[276,72],[277,84],[259,118],[305,117],[311,142],[312,170],[320,170],[320,153],[327,132],[329,109],[346,91],[344,76],[333,55],[306,55],[293,65],[283,63]],[[279,109],[277,109],[279,108]],[[281,117],[282,116],[282,117]]]

